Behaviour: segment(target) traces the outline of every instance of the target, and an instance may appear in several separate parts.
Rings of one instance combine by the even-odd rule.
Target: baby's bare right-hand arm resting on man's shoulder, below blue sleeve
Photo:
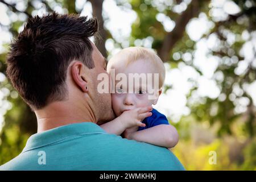
[[[172,125],[157,125],[134,133],[126,133],[125,131],[124,136],[127,139],[134,139],[138,142],[151,143],[166,148],[174,147],[179,140],[179,134]]]

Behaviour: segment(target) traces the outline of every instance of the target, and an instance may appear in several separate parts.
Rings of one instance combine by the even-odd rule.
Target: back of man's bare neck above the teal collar
[[[43,109],[36,110],[35,114],[38,119],[38,133],[72,123],[96,123],[88,105],[72,105],[64,101],[52,102]]]

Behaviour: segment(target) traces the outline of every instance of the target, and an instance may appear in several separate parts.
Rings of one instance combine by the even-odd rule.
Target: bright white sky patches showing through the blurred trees
[[[164,0],[154,0],[153,3],[158,9],[163,9],[160,7],[159,1],[164,2]],[[19,1],[20,2],[20,1]],[[54,6],[55,11],[59,13],[66,13],[59,5],[54,5],[53,1],[52,6]],[[166,0],[166,3],[171,3],[171,0]],[[190,1],[184,1],[180,5],[174,7],[174,11],[177,13],[181,13],[187,8],[187,5]],[[35,10],[32,15],[43,15],[45,13],[45,7],[42,6],[40,3],[36,3],[35,6],[41,7],[40,10]],[[114,0],[105,0],[103,4],[103,13],[105,19],[105,28],[107,28],[113,38],[118,43],[122,44],[122,47],[129,47],[129,36],[131,33],[131,24],[136,20],[137,14],[135,11],[131,10],[131,6],[129,3],[126,3],[126,9],[120,9]],[[81,11],[81,16],[88,15],[92,16],[92,6],[90,2],[86,2],[85,0],[77,0],[76,7],[78,10]],[[240,8],[229,0],[212,0],[210,3],[210,15],[213,17],[214,20],[223,20],[225,19],[228,14],[236,14],[240,12]],[[17,9],[22,10],[24,6],[22,3],[19,3]],[[143,9],[143,7],[141,7]],[[111,11],[109,11],[111,10]],[[4,26],[8,26],[10,21],[14,20],[24,20],[26,16],[17,16],[12,14],[11,16],[7,16],[6,14],[7,7],[0,3],[0,22]],[[129,19],[126,17],[129,16]],[[126,19],[124,21],[124,19]],[[161,22],[164,26],[164,29],[169,32],[175,27],[175,22],[170,17],[159,13],[156,15],[156,19]],[[219,45],[219,40],[216,35],[212,34],[209,36],[208,39],[202,38],[204,34],[209,32],[210,28],[214,26],[214,23],[208,20],[207,15],[201,13],[199,18],[193,18],[186,27],[186,32],[192,40],[196,43],[196,50],[194,52],[195,58],[192,60],[192,55],[189,52],[184,53],[181,55],[179,52],[174,53],[174,60],[182,59],[186,61],[192,61],[192,64],[199,69],[203,75],[199,75],[199,73],[195,70],[195,68],[185,65],[184,63],[179,63],[177,68],[171,68],[170,64],[164,64],[166,67],[166,81],[165,85],[172,85],[172,89],[169,89],[167,93],[162,94],[159,97],[158,104],[154,107],[158,109],[163,114],[168,115],[171,118],[172,122],[179,122],[180,118],[183,115],[189,115],[190,109],[187,104],[193,104],[194,102],[204,102],[205,97],[210,98],[218,98],[218,100],[224,100],[226,96],[220,94],[221,89],[218,86],[217,81],[221,81],[223,79],[223,73],[216,72],[216,68],[218,64],[221,63],[220,58],[217,56],[210,55],[209,56],[209,49],[217,48]],[[22,27],[20,27],[19,31],[22,31]],[[11,35],[9,32],[5,30],[5,28],[0,27],[0,52],[6,51],[6,47],[2,45],[5,43],[9,43],[11,40]],[[236,35],[232,32],[227,32],[228,36],[228,43],[233,44],[236,40]],[[246,71],[248,65],[253,61],[253,65],[256,67],[256,59],[254,56],[254,52],[256,51],[256,32],[251,33],[244,31],[241,35],[241,39],[246,40],[246,43],[243,45],[241,49],[241,55],[245,56],[245,59],[240,61],[238,67],[236,68],[235,73],[237,75],[241,75],[243,72]],[[144,46],[151,48],[153,42],[152,37],[147,37],[144,39],[135,40],[135,46]],[[117,47],[113,39],[106,40],[106,49],[109,51],[109,57],[112,57],[115,53],[121,50],[120,47]],[[228,61],[238,61],[236,57]],[[0,73],[0,82],[5,80],[5,76]],[[193,82],[191,80],[197,82],[199,88],[192,93],[192,97],[187,99],[187,95],[190,90],[193,88]],[[254,105],[256,106],[256,81],[254,81],[251,85],[245,85],[245,90],[247,93],[253,97]],[[240,97],[236,100],[236,97],[241,95],[242,89],[237,86],[234,89],[235,93],[233,94],[234,97],[230,97],[230,100],[234,100],[236,105],[236,112],[242,113],[245,111],[246,106],[249,104],[246,98]],[[2,89],[0,90],[0,128],[1,122],[3,121],[3,115],[6,113],[7,109],[11,108],[11,104],[4,100],[7,94],[11,94],[8,90]],[[14,94],[14,97],[17,94]]]

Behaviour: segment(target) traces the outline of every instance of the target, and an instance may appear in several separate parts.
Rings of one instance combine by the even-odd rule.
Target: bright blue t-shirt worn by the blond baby
[[[152,115],[151,117],[145,118],[142,123],[145,123],[145,127],[139,127],[138,131],[148,129],[153,126],[157,125],[169,125],[168,119],[166,118],[165,115],[159,113],[159,111],[153,109],[151,111]]]

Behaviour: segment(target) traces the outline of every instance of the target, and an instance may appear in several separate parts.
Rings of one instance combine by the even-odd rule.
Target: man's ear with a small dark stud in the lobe
[[[84,64],[82,64],[80,61],[76,61],[71,66],[71,74],[77,86],[79,86],[83,92],[88,92],[88,82],[85,78],[84,67],[85,67]]]

